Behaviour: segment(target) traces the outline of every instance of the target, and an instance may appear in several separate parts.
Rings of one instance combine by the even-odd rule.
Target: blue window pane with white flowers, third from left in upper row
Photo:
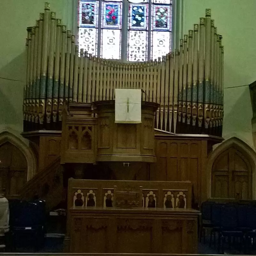
[[[146,29],[147,28],[147,5],[130,4],[130,28]]]

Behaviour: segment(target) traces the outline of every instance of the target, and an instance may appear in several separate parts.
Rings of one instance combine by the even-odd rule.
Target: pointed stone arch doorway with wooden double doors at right
[[[208,158],[208,198],[255,199],[256,154],[233,137],[222,142]]]

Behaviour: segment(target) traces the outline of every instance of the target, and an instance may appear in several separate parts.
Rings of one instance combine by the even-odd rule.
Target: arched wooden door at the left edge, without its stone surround
[[[19,148],[6,142],[0,146],[0,191],[18,195],[27,181],[27,160]]]

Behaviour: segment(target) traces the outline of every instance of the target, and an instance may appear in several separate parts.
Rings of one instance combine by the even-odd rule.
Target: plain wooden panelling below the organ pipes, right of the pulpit
[[[157,162],[151,166],[154,180],[191,181],[195,201],[200,203],[202,163],[207,152],[203,152],[201,140],[164,140],[156,139]],[[204,184],[206,187],[206,184]]]

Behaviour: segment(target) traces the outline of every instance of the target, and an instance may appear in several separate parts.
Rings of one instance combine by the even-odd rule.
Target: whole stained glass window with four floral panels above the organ
[[[172,0],[78,0],[79,48],[105,59],[147,61],[171,51]]]

